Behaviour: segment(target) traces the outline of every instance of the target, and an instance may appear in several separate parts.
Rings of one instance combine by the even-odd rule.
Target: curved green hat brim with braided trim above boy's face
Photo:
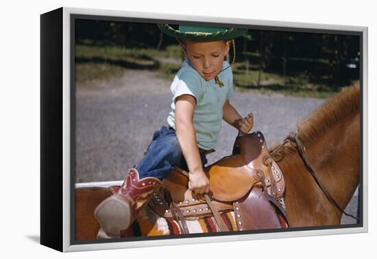
[[[247,32],[247,29],[229,28],[224,29],[221,32],[206,33],[206,32],[180,32],[178,29],[173,29],[168,24],[158,24],[160,30],[174,38],[183,40],[199,40],[199,41],[211,41],[211,40],[229,40],[231,38],[237,38]]]

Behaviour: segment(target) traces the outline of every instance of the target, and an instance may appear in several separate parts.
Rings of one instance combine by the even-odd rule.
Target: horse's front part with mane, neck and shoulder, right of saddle
[[[319,181],[343,210],[359,183],[359,104],[359,86],[345,88],[297,125],[306,157]],[[291,227],[340,223],[341,212],[315,183],[292,144],[285,145],[273,158],[281,159],[278,164],[284,174]]]

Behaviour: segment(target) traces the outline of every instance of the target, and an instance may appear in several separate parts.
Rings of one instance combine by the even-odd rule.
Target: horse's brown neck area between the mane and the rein
[[[345,208],[358,185],[360,156],[359,114],[350,115],[329,128],[307,147],[319,180]]]

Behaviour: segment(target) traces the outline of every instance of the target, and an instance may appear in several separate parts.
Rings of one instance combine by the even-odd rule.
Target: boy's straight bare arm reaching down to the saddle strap
[[[175,101],[175,132],[189,167],[189,188],[195,193],[208,193],[209,181],[203,170],[202,160],[197,147],[193,116],[195,98],[181,95]]]

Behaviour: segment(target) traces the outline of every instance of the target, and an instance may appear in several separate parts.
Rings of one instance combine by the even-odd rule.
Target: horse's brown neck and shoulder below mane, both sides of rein
[[[358,122],[359,114],[351,114],[306,146],[306,157],[319,181],[341,208],[348,204],[358,185]],[[290,152],[288,149],[285,150],[287,156],[279,165],[286,180],[287,211],[295,211],[292,225],[340,223],[341,213],[317,186],[297,151],[292,147]]]

